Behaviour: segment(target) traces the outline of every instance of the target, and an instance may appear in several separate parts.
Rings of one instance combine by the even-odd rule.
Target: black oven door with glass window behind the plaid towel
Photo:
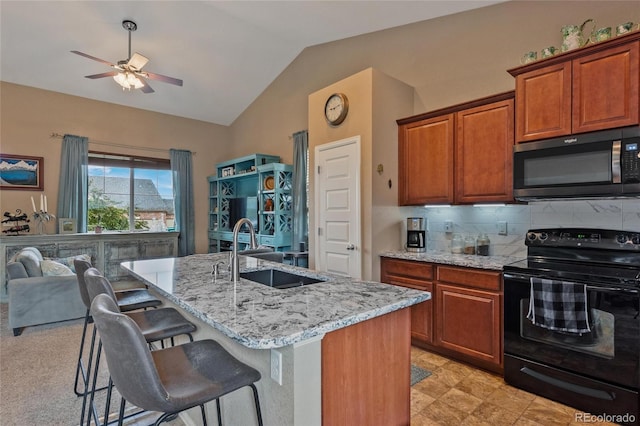
[[[530,277],[504,274],[505,353],[638,389],[638,290],[587,284],[591,332],[558,332],[534,325],[527,319]]]

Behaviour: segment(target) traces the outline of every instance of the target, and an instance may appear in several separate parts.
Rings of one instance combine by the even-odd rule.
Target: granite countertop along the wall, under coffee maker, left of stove
[[[467,268],[489,269],[493,271],[502,271],[502,267],[504,265],[522,260],[522,258],[515,256],[477,256],[470,254],[452,254],[444,251],[411,253],[398,250],[380,253],[380,256],[394,259],[415,260],[418,262],[463,266]]]

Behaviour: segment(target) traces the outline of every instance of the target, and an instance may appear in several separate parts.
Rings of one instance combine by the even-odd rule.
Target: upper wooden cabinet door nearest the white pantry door
[[[454,114],[398,128],[398,204],[453,201]]]

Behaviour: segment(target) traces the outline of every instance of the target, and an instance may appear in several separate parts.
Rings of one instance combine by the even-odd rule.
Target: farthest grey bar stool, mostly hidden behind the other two
[[[91,298],[89,298],[89,293],[87,292],[87,285],[84,281],[84,273],[87,269],[91,268],[91,263],[86,260],[74,259],[73,266],[76,270],[76,277],[78,279],[78,288],[80,290],[80,297],[82,298],[82,302],[87,308],[87,311],[84,316],[84,325],[82,327],[82,337],[80,338],[80,351],[78,353],[78,362],[76,364],[76,377],[74,380],[73,391],[77,396],[83,396],[87,391],[88,386],[88,372],[87,370],[91,367],[87,365],[87,369],[84,368],[84,362],[82,361],[82,354],[84,351],[84,343],[87,336],[87,327],[93,322],[91,319],[91,315],[89,315],[89,308],[91,308]],[[147,309],[147,308],[155,308],[162,304],[162,301],[149,293],[146,289],[132,289],[132,290],[123,290],[116,293],[118,297],[118,306],[122,312],[129,312],[137,309]],[[89,363],[92,360],[93,355],[93,347],[95,342],[95,331],[93,333],[91,339],[91,351],[89,354]],[[81,392],[78,390],[78,381],[80,379],[80,375],[82,375],[82,379],[84,381],[84,391]]]

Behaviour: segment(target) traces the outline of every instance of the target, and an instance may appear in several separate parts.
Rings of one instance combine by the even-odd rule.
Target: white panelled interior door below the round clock
[[[316,268],[362,277],[360,136],[317,146]]]

